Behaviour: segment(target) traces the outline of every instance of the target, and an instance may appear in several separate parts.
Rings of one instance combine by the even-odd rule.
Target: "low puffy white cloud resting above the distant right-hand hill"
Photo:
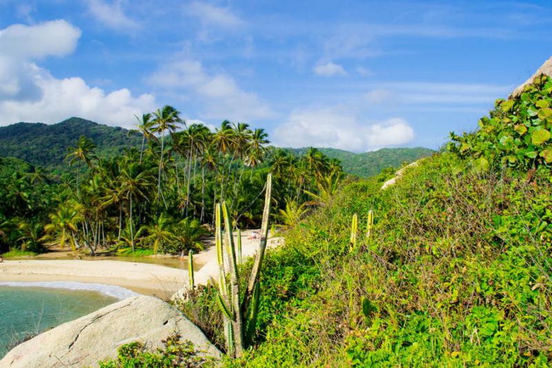
[[[398,117],[383,122],[362,122],[344,106],[295,110],[273,132],[275,144],[284,147],[332,147],[373,151],[402,146],[414,139],[414,130]]]

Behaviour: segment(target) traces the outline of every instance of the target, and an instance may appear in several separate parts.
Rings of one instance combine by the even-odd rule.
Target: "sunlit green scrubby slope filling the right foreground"
[[[550,131],[541,101],[551,90],[538,78],[519,98],[497,101],[480,130],[453,135],[448,151],[385,191],[383,173],[344,182],[320,202],[267,253],[255,347],[225,364],[548,366],[551,137],[535,132]],[[180,307],[224,349],[216,289]]]

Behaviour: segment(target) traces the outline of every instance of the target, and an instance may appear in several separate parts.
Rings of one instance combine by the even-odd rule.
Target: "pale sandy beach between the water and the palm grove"
[[[208,240],[208,244],[212,244]],[[268,248],[283,243],[283,238],[268,240]],[[255,231],[242,233],[242,256],[250,257],[259,246]],[[217,278],[217,251],[208,246],[205,251],[194,255],[197,271],[194,273],[196,284],[206,284],[211,278]],[[117,260],[4,260],[0,263],[0,282],[49,282],[72,281],[95,284],[116,285],[137,293],[170,297],[179,289],[188,285],[188,270],[165,267],[159,264],[126,262]]]

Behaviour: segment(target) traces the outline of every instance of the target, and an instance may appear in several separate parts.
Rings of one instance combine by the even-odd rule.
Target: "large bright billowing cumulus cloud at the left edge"
[[[155,108],[152,95],[133,97],[126,88],[106,93],[79,77],[57,79],[35,63],[70,54],[80,35],[63,20],[0,30],[0,125],[79,116],[130,127],[133,114]]]

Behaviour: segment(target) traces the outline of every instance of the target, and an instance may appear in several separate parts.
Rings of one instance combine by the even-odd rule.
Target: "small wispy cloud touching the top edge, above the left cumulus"
[[[115,0],[112,3],[103,0],[86,0],[88,11],[99,22],[112,30],[125,33],[135,32],[140,28],[139,23],[130,19],[123,10],[125,0]]]

